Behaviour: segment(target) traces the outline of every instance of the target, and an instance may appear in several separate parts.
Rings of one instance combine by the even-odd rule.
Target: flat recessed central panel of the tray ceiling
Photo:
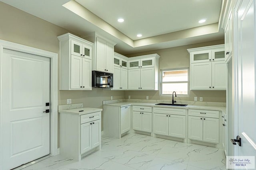
[[[221,0],[76,0],[132,40],[219,20]],[[123,23],[117,21],[124,18]],[[205,23],[198,23],[207,19]],[[142,37],[136,37],[142,33]]]

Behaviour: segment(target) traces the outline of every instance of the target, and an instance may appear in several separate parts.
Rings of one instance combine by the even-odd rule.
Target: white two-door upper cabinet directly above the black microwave
[[[84,36],[92,41],[92,70],[114,73],[114,45],[116,43],[105,39],[97,33]]]

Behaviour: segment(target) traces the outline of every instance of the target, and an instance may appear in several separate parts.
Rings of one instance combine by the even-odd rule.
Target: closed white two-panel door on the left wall
[[[50,59],[4,49],[3,169],[50,154]]]

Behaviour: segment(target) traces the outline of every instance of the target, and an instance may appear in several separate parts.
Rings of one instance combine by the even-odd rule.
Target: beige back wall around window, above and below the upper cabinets
[[[192,45],[184,45],[180,47],[173,47],[168,49],[160,49],[154,51],[147,51],[143,53],[135,53],[126,55],[127,57],[135,57],[139,55],[147,55],[157,53],[160,55],[159,58],[159,71],[161,69],[168,68],[189,68],[190,65],[190,55],[187,49],[204,47],[210,45],[224,44],[224,39],[218,41],[210,41],[206,43],[198,43]],[[160,96],[160,91],[126,91],[125,97],[128,98],[128,95],[132,99],[146,99],[146,96],[149,99],[154,100],[170,100],[170,97]],[[226,102],[226,91],[208,91],[208,90],[190,90],[189,96],[178,97],[176,100],[186,100],[194,101],[194,96],[203,97],[204,102]]]

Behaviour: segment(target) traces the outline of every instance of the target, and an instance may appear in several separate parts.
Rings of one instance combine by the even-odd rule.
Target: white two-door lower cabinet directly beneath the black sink
[[[154,133],[186,138],[186,109],[154,107]]]

